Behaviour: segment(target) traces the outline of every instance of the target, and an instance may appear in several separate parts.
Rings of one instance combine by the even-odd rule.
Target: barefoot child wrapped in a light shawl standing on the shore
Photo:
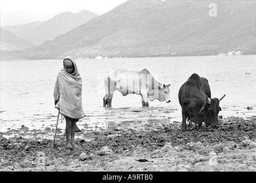
[[[81,132],[76,122],[85,117],[82,109],[82,78],[73,58],[65,57],[63,65],[54,86],[54,104],[66,120],[66,145],[76,147],[74,134]]]

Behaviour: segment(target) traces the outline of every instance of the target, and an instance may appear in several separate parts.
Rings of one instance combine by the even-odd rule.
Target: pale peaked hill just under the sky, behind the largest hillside
[[[97,17],[97,14],[87,10],[76,14],[65,12],[50,18],[48,21],[32,22],[18,26],[3,26],[3,29],[9,30],[11,33],[35,45],[41,45],[41,43],[52,40],[58,35],[64,34],[94,17]]]

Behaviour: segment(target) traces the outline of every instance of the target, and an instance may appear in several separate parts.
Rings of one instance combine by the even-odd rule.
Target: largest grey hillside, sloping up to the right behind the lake
[[[217,17],[210,17],[210,3]],[[255,1],[129,0],[27,52],[27,59],[256,54]]]

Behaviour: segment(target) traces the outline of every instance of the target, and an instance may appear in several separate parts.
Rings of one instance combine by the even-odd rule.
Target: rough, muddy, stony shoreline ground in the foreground
[[[144,129],[82,129],[77,148],[65,147],[64,129],[0,132],[0,172],[9,171],[256,171],[256,116],[219,119],[218,129],[187,131],[180,122]],[[15,134],[13,137],[5,138]],[[77,134],[77,136],[78,136]]]

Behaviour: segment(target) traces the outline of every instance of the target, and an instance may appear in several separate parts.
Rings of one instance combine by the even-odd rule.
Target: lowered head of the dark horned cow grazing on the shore
[[[208,98],[206,96],[206,101],[204,102],[199,114],[203,115],[204,123],[208,126],[211,125],[212,128],[218,128],[218,114],[221,110],[219,102],[226,96],[226,94],[220,98]]]

